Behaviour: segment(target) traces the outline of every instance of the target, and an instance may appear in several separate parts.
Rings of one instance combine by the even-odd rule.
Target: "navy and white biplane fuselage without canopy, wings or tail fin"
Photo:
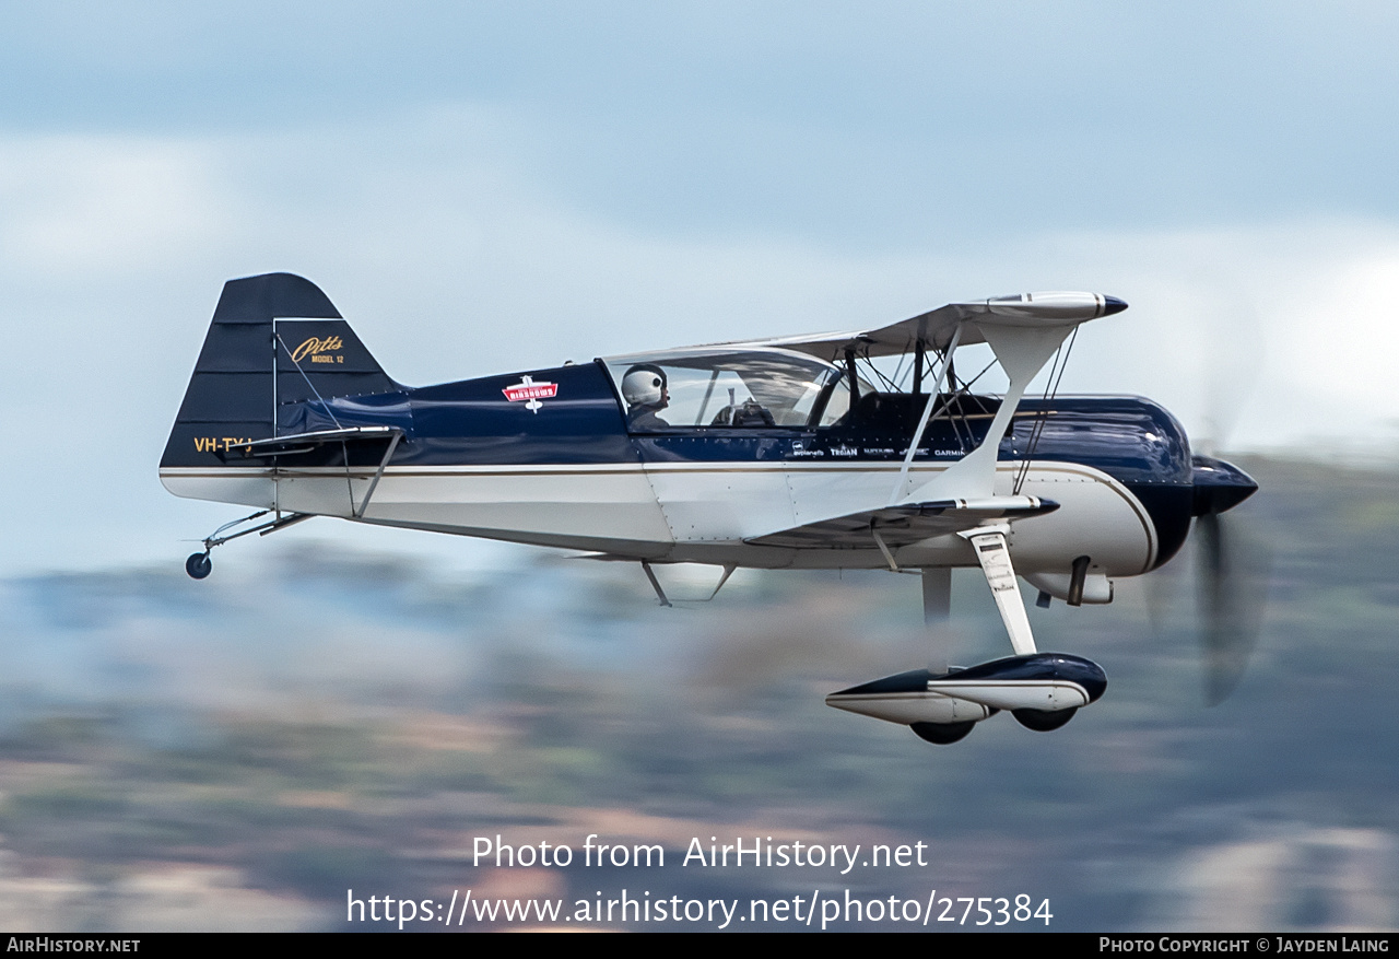
[[[925,398],[881,396],[883,410],[824,427],[628,433],[625,406],[596,361],[290,403],[278,410],[276,428],[402,430],[402,444],[357,518],[362,522],[652,561],[873,568],[886,564],[873,543],[783,549],[746,540],[887,496],[921,410],[915,400]],[[964,398],[961,416],[929,424],[911,466],[915,482],[957,462],[985,435],[999,400],[970,399],[975,402]],[[1189,444],[1175,419],[1132,396],[1025,400],[999,448],[997,494],[1011,493],[1041,419],[1020,491],[1060,508],[1017,525],[1010,543],[1016,567],[1062,571],[1086,554],[1094,571],[1118,577],[1168,560],[1188,532],[1193,496]],[[355,518],[379,466],[376,452],[339,444],[297,458],[242,456],[218,433],[176,424],[161,462],[171,493]],[[915,568],[975,564],[957,536],[895,553],[901,566]]]

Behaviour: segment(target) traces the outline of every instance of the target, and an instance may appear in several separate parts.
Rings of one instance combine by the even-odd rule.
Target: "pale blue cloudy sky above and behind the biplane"
[[[222,281],[270,270],[407,384],[1095,290],[1132,309],[1065,389],[1151,396],[1202,448],[1393,456],[1396,28],[1378,1],[6,4],[0,574],[179,563],[234,518],[157,462]],[[313,525],[281,535],[501,556]]]

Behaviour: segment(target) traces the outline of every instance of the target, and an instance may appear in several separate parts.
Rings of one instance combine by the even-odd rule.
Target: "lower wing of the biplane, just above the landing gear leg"
[[[879,545],[908,546],[929,536],[971,529],[983,519],[1039,517],[1059,504],[1037,496],[993,496],[981,500],[939,500],[862,510],[820,519],[743,542],[786,549],[870,549]]]

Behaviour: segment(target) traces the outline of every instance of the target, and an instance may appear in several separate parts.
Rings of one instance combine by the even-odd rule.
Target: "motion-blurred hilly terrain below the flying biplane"
[[[229,546],[204,582],[178,561],[7,580],[0,925],[333,930],[348,888],[644,885],[1025,892],[1055,930],[1393,928],[1396,470],[1241,462],[1262,490],[1231,518],[1273,567],[1228,701],[1202,706],[1188,543],[1154,606],[1122,581],[1107,608],[1032,610],[1041,648],[1105,666],[1102,701],[947,748],[821,701],[923,662],[914,577],[740,573],[660,609],[630,566],[519,550],[443,574],[329,538]],[[965,661],[1003,652],[985,594],[958,577]],[[669,865],[471,868],[476,836],[588,833]],[[680,868],[691,836],[925,841],[932,865]]]

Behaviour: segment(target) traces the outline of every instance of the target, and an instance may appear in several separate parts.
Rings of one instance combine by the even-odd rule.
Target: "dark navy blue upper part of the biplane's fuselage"
[[[536,389],[525,389],[526,377]],[[628,434],[611,378],[602,363],[589,363],[309,400],[284,410],[280,421],[281,430],[292,433],[337,424],[396,426],[404,434],[393,456],[396,466],[898,462],[922,402],[908,393],[867,393],[838,421],[820,428],[677,426]],[[929,423],[915,462],[956,461],[974,449],[1000,400],[964,396],[958,403],[950,416]],[[337,459],[343,455],[336,447],[308,454],[327,463],[344,462]],[[364,451],[364,462],[376,455]],[[1027,399],[1002,440],[999,458],[1027,455],[1091,466],[1126,486],[1157,526],[1158,564],[1185,540],[1195,497],[1189,441],[1157,403],[1137,396]]]

